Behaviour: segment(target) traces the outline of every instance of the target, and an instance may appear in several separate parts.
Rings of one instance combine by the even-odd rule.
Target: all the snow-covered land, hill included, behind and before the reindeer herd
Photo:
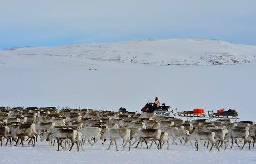
[[[179,111],[232,108],[255,118],[256,46],[205,39],[139,40],[109,44],[25,47],[0,51],[0,106],[69,106],[140,111],[150,99]],[[163,62],[162,62],[163,61]],[[236,62],[238,61],[238,62]],[[169,66],[159,66],[168,65]],[[185,66],[185,65],[218,66]],[[235,65],[233,65],[235,64]],[[174,66],[175,65],[175,66]],[[120,143],[119,143],[120,145]],[[4,147],[0,163],[255,163],[255,149],[199,152],[189,144],[170,150],[57,152]]]

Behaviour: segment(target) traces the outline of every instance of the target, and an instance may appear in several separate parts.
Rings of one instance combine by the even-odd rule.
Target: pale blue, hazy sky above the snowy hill
[[[3,0],[0,49],[190,37],[256,45],[255,20],[255,0]]]

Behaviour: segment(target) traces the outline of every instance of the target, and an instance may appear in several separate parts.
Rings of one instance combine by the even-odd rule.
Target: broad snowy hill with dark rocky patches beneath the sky
[[[146,65],[233,65],[253,60],[256,46],[190,38],[10,48],[0,51],[0,55],[47,55]]]

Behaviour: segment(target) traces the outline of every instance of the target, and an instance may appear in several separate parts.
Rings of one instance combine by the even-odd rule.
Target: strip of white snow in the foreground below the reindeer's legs
[[[166,145],[163,149],[158,150],[156,145],[151,149],[146,149],[146,145],[138,146],[138,149],[132,148],[131,151],[121,151],[122,142],[117,142],[119,151],[115,150],[112,145],[110,150],[108,148],[109,142],[102,147],[101,142],[95,146],[90,146],[86,142],[85,151],[76,151],[76,146],[71,152],[56,151],[57,145],[50,148],[47,142],[38,141],[35,147],[4,147],[0,149],[1,159],[0,163],[255,163],[256,149],[248,150],[248,144],[243,150],[239,150],[236,145],[233,149],[221,150],[218,152],[213,149],[211,152],[199,145],[199,151],[195,151],[195,147],[187,143],[185,146],[171,145],[169,150]],[[242,145],[242,143],[240,143]]]

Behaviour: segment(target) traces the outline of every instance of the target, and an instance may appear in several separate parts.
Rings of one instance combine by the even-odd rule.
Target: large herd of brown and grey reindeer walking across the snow
[[[232,123],[230,119],[198,119],[190,122],[154,113],[56,107],[0,107],[0,126],[1,147],[4,140],[5,146],[24,146],[24,142],[28,146],[35,146],[40,139],[40,142],[49,142],[50,147],[56,142],[58,151],[71,151],[74,144],[77,151],[84,150],[87,140],[92,146],[99,140],[104,146],[110,140],[108,150],[113,144],[118,150],[117,140],[123,141],[123,150],[129,144],[129,151],[135,144],[135,148],[140,143],[143,146],[143,142],[147,149],[153,144],[156,144],[157,149],[162,149],[165,143],[169,149],[169,140],[174,145],[177,145],[177,140],[182,145],[190,142],[193,146],[194,143],[197,151],[199,142],[207,148],[210,146],[209,151],[213,147],[218,151],[226,150],[229,143],[231,148],[235,143],[239,149],[243,149],[248,143],[250,150],[251,144],[254,147],[256,138],[256,124],[253,121]],[[239,145],[240,142],[243,143],[242,146]]]

